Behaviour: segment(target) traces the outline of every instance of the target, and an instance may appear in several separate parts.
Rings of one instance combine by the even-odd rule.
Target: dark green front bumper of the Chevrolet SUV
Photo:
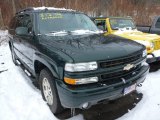
[[[57,91],[61,104],[65,108],[82,108],[82,105],[86,102],[89,103],[89,106],[92,106],[103,100],[114,100],[123,96],[124,88],[135,83],[137,85],[142,83],[148,72],[149,66],[145,65],[136,75],[127,79],[126,83],[120,82],[110,86],[97,83],[93,85],[73,87],[58,80],[56,82]]]

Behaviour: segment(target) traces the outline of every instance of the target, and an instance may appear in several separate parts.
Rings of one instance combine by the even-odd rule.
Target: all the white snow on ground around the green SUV
[[[160,70],[149,73],[138,91],[142,100],[118,120],[160,120]],[[8,44],[0,46],[0,120],[57,120],[40,90],[13,64]],[[70,120],[83,120],[77,115]]]

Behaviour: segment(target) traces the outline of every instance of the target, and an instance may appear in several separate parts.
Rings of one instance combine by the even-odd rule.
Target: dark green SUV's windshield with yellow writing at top
[[[90,18],[81,13],[44,12],[38,14],[41,34],[65,31],[98,31]]]

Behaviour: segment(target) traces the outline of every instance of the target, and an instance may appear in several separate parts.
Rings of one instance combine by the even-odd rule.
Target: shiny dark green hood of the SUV
[[[41,35],[39,40],[50,51],[56,52],[56,48],[67,54],[73,59],[73,62],[117,59],[145,49],[143,45],[137,42],[114,35],[104,36],[103,34]]]

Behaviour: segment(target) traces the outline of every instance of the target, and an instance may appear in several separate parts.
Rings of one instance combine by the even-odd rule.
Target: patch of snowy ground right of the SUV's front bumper
[[[138,91],[143,93],[142,100],[118,120],[160,120],[160,70],[149,73]]]

